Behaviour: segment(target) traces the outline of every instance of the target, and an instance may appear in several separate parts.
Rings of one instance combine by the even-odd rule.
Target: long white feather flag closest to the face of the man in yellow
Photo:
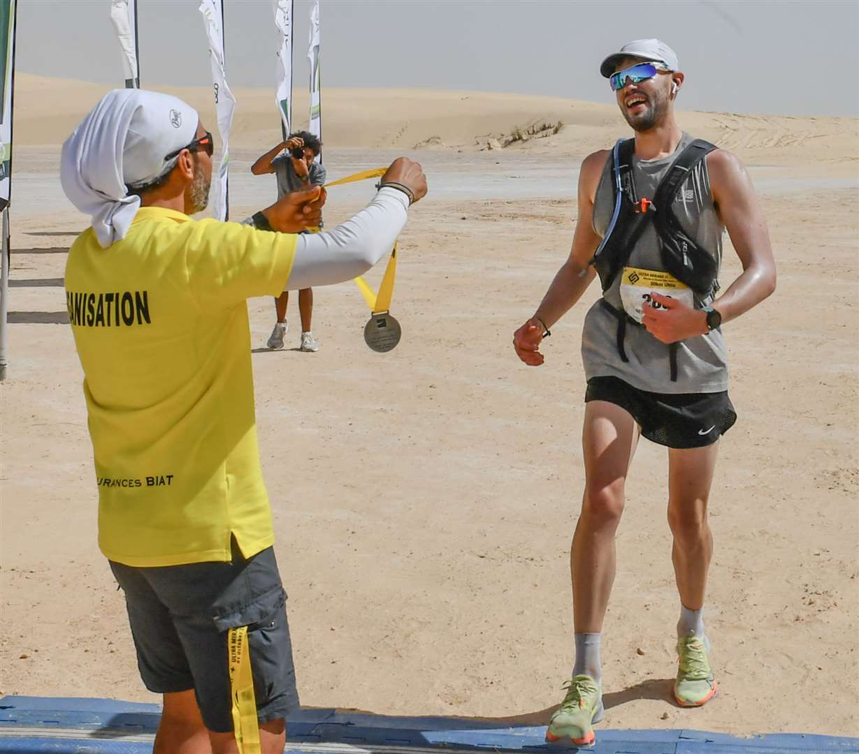
[[[203,0],[200,13],[209,39],[209,60],[212,66],[212,82],[215,87],[217,130],[221,134],[221,166],[215,196],[212,198],[212,217],[216,220],[229,218],[228,165],[229,132],[233,128],[235,97],[227,86],[227,69],[224,64],[223,45],[223,0]]]

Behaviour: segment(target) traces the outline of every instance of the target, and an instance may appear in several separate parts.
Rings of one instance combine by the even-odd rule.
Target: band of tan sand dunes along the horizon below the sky
[[[15,142],[21,146],[63,142],[82,116],[107,91],[84,81],[19,74],[15,90]],[[210,87],[156,87],[196,107],[210,128],[216,123]],[[236,89],[238,106],[232,143],[259,148],[276,142],[280,128],[268,89]],[[583,156],[605,148],[629,129],[617,107],[524,94],[440,92],[405,89],[326,89],[323,118],[328,147],[411,150],[422,142],[437,147],[485,148],[490,138],[533,124],[564,124],[557,135],[517,142],[512,149]],[[295,112],[307,112],[298,92]],[[723,112],[681,112],[684,128],[730,149],[750,164],[783,161],[859,160],[859,119],[789,118]],[[296,118],[296,127],[307,120]]]

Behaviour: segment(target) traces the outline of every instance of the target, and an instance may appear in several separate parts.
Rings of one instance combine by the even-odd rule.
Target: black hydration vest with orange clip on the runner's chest
[[[614,210],[606,235],[589,262],[600,275],[603,293],[612,286],[612,282],[629,262],[632,250],[635,249],[638,239],[650,222],[655,224],[659,254],[666,272],[685,283],[701,299],[718,291],[719,284],[716,278],[719,265],[716,255],[710,254],[690,238],[680,225],[672,207],[679,187],[689,177],[695,166],[714,149],[716,149],[714,144],[705,142],[703,139],[695,139],[688,144],[673,161],[667,174],[656,187],[655,195],[651,200],[639,199],[636,194],[632,173],[635,139],[619,139],[614,145],[612,149]],[[618,320],[618,353],[620,358],[627,362],[629,359],[624,350],[626,323],[629,321],[637,327],[642,325],[623,309],[617,309],[609,304],[605,297],[601,299],[600,304]],[[671,381],[677,382],[676,342],[668,346],[668,354]]]

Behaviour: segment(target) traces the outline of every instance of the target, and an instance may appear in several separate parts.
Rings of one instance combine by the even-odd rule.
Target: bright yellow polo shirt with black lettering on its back
[[[134,566],[271,546],[246,299],[283,291],[295,236],[141,208],[65,270],[99,486],[99,546]]]

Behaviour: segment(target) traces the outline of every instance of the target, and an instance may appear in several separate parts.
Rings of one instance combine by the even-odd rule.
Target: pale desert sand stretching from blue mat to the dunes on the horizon
[[[123,598],[96,546],[82,371],[64,324],[64,250],[88,220],[60,190],[59,145],[106,87],[17,83],[0,692],[157,701],[139,680]],[[208,87],[170,91],[214,130]],[[404,337],[392,353],[364,345],[368,311],[352,284],[316,290],[316,354],[295,350],[294,300],[289,347],[277,353],[264,347],[271,300],[249,302],[302,703],[545,723],[572,661],[578,349],[596,287],[546,341],[543,367],[521,365],[510,340],[569,250],[582,157],[626,126],[607,91],[607,104],[324,95],[331,178],[408,154],[422,161],[430,195],[401,238],[392,310]],[[241,219],[274,196],[273,178],[249,166],[279,126],[270,92],[236,97],[231,206]],[[726,326],[740,419],[722,441],[710,502],[706,606],[721,693],[704,709],[669,700],[679,606],[667,463],[643,442],[603,634],[602,727],[859,735],[859,122],[704,112],[679,121],[750,167],[778,290]],[[485,148],[557,122],[553,136]],[[372,193],[332,189],[326,221]],[[726,244],[723,284],[738,270]]]

